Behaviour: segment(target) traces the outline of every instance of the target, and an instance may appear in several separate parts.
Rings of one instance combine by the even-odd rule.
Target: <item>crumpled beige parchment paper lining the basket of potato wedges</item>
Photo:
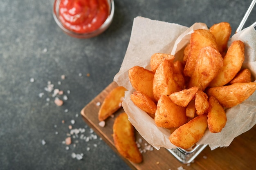
[[[137,17],[134,19],[130,42],[124,61],[114,81],[119,86],[124,86],[126,91],[122,103],[130,122],[150,145],[157,150],[160,147],[167,149],[176,148],[169,141],[170,130],[159,128],[154,120],[144,111],[139,109],[130,100],[133,93],[128,70],[133,66],[142,66],[150,69],[150,57],[154,53],[169,53],[175,55],[175,60],[182,60],[179,51],[189,43],[190,35],[195,29],[208,29],[204,23],[195,23],[190,28],[179,24],[172,24],[148,18]],[[245,62],[243,67],[249,68],[252,77],[256,77],[256,31],[248,27],[232,36],[229,45],[234,40],[241,40],[245,44]],[[207,129],[204,137],[197,144],[208,144],[211,150],[226,147],[238,135],[246,132],[256,124],[256,93],[242,104],[226,110],[227,123],[219,133],[211,133]]]

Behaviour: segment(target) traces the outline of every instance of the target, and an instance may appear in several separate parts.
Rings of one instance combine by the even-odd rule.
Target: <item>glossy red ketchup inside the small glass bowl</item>
[[[76,33],[97,30],[108,18],[107,0],[61,0],[59,19],[66,29]]]

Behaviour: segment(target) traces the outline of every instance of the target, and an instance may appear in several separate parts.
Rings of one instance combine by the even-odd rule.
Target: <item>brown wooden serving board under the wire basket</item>
[[[81,110],[84,121],[99,135],[118,155],[113,139],[112,126],[115,117],[124,112],[121,108],[115,113],[115,117],[106,119],[104,127],[99,126],[98,111],[100,104],[108,93],[117,86],[112,82],[97,97]],[[146,141],[136,131],[136,139],[141,138],[144,145]],[[242,135],[236,137],[227,148],[217,148],[213,151],[207,146],[188,165],[178,161],[168,150],[147,151],[143,153],[142,163],[132,163],[119,155],[133,170],[177,170],[182,166],[185,170],[253,170],[256,169],[256,126]]]

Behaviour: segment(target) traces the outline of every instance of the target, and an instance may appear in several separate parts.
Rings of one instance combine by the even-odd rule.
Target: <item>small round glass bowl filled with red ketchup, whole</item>
[[[114,10],[114,0],[55,0],[53,16],[67,35],[92,38],[110,26]]]

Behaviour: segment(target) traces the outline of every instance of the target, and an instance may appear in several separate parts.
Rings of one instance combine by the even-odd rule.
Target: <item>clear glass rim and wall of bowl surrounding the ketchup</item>
[[[74,31],[71,31],[69,29],[66,29],[65,26],[61,23],[59,19],[59,4],[61,0],[54,0],[54,6],[53,6],[53,17],[55,22],[58,24],[58,26],[62,29],[64,33],[67,35],[70,35],[71,37],[74,38],[92,38],[95,37],[101,33],[103,33],[111,24],[114,16],[114,11],[115,11],[115,4],[114,0],[107,0],[108,2],[108,7],[109,7],[109,13],[108,13],[108,18],[105,20],[105,22],[95,31],[88,32],[88,33],[76,33]]]

